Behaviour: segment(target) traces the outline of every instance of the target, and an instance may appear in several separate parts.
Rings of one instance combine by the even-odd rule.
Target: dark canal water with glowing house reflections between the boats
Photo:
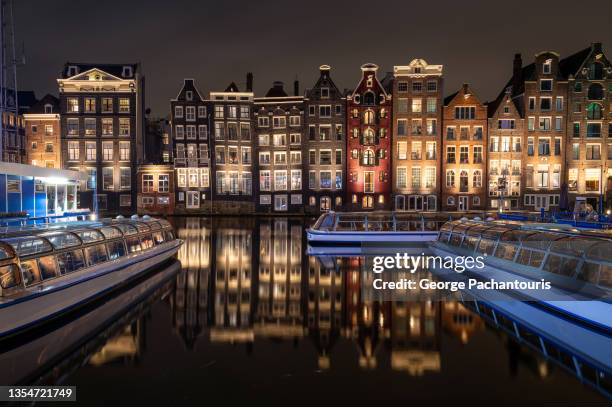
[[[100,406],[609,405],[461,303],[362,298],[358,258],[305,254],[311,221],[174,219],[180,264],[0,349],[0,381]]]

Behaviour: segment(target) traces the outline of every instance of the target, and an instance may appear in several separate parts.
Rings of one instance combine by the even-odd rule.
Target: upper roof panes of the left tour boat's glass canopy
[[[53,227],[24,227],[0,232],[0,261],[26,257],[171,228],[164,219],[104,219],[66,222]]]

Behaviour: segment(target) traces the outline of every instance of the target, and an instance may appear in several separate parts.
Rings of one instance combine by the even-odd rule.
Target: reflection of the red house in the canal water
[[[346,261],[346,312],[345,335],[357,342],[359,366],[374,369],[377,366],[376,351],[380,343],[389,336],[389,303],[364,298],[364,285],[371,285],[373,273],[365,270],[363,257],[350,257]]]

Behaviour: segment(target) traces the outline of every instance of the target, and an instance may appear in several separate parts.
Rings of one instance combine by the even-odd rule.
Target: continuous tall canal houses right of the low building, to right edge
[[[186,79],[171,101],[174,211],[599,207],[612,177],[601,44],[512,68],[490,102],[468,84],[444,97],[443,67],[423,59],[386,75],[364,64],[348,91],[327,65],[305,92],[275,82],[263,97],[250,73],[208,97]]]

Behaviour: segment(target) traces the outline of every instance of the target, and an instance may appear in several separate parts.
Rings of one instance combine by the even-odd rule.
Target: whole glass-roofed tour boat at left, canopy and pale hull
[[[75,310],[174,256],[182,241],[149,217],[0,233],[0,339]]]

